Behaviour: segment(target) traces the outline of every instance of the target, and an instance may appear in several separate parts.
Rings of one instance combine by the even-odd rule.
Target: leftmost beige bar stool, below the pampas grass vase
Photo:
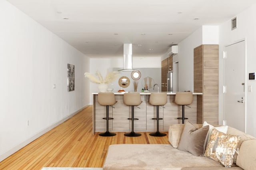
[[[106,119],[107,121],[107,130],[104,133],[100,133],[100,136],[115,136],[115,133],[111,133],[108,131],[108,120],[112,120],[113,118],[108,117],[108,107],[116,104],[116,99],[114,93],[98,93],[98,103],[102,106],[106,106],[106,117],[102,119]]]

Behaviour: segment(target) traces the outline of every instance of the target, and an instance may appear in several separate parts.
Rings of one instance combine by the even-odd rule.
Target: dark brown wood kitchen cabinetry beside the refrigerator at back
[[[161,63],[161,87],[162,91],[167,91],[167,74],[168,71],[172,71],[172,56],[164,59]]]

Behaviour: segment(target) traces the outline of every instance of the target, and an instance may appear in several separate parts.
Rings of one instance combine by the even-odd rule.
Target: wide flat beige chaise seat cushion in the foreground
[[[103,170],[180,170],[198,166],[222,165],[209,158],[180,151],[170,144],[113,144],[108,147]]]

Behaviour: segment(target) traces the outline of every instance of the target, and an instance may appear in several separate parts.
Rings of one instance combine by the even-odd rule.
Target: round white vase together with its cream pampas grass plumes
[[[108,73],[104,79],[99,71],[96,72],[96,75],[92,75],[88,72],[84,73],[85,78],[88,78],[92,83],[99,84],[98,89],[100,92],[103,93],[108,91],[108,83],[112,83],[113,81],[115,81],[118,78],[118,76],[118,71]]]

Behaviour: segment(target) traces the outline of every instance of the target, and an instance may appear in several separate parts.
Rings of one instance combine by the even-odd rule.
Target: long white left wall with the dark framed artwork
[[[89,70],[89,59],[5,0],[0,19],[1,161],[88,105],[82,72]],[[75,65],[72,92],[67,92],[67,63]]]

